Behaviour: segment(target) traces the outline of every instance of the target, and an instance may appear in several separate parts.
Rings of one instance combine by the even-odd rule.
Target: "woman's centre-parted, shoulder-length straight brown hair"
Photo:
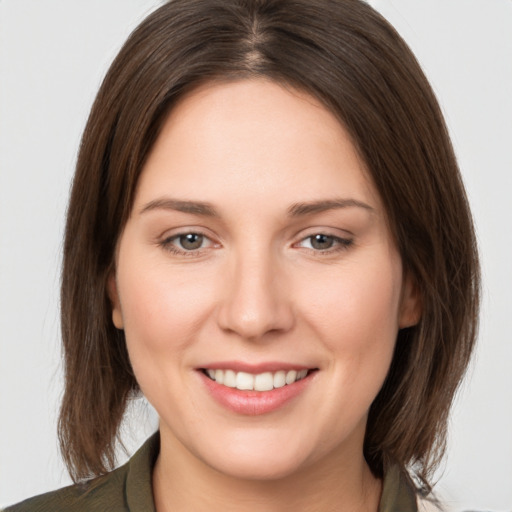
[[[475,235],[434,94],[396,31],[358,0],[173,0],[113,62],[83,135],[65,235],[59,436],[70,474],[114,466],[119,424],[138,391],[106,282],[159,129],[197,85],[258,76],[335,113],[380,193],[422,318],[398,334],[364,453],[376,475],[392,463],[412,467],[428,487],[476,337]]]

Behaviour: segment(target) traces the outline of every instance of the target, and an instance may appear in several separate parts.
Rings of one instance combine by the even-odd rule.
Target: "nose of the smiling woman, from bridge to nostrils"
[[[255,253],[231,262],[218,311],[222,330],[261,341],[293,327],[291,290],[282,264]]]

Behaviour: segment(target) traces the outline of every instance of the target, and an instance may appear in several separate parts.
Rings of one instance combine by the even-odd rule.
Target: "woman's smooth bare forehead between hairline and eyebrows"
[[[177,103],[136,203],[164,191],[213,203],[243,195],[255,206],[329,195],[379,202],[337,117],[312,96],[265,79],[203,84]]]

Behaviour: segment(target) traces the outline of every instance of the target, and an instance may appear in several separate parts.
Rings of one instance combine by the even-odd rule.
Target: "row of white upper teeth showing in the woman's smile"
[[[264,372],[253,375],[247,372],[213,370],[209,368],[206,370],[206,373],[212,380],[230,388],[249,391],[270,391],[303,379],[308,374],[308,370],[279,370],[275,373]]]

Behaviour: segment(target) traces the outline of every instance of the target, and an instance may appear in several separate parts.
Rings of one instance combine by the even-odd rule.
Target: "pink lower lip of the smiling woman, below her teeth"
[[[313,373],[309,373],[293,384],[270,391],[242,391],[219,384],[199,371],[202,380],[213,398],[226,409],[237,414],[257,416],[275,411],[300,395],[310,384]]]

